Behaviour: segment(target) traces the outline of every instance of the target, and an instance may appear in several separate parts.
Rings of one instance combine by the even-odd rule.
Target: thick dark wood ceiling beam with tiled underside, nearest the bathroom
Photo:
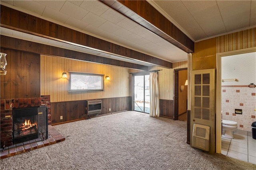
[[[194,52],[194,42],[146,0],[100,0],[186,53]]]

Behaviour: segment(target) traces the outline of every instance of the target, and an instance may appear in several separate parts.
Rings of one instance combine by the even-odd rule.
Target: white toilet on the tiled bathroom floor
[[[233,132],[237,128],[237,122],[231,120],[222,120],[222,137],[233,139]]]

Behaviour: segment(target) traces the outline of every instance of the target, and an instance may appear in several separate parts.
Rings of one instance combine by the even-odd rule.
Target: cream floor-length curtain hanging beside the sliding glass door
[[[157,72],[149,74],[150,116],[159,117],[159,83]]]

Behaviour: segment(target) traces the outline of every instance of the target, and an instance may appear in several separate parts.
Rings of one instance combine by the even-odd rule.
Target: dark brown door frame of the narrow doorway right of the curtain
[[[174,116],[173,119],[174,120],[178,120],[179,119],[179,71],[180,70],[188,70],[188,68],[178,68],[178,69],[174,69],[174,96],[173,96],[173,109],[174,109]],[[188,79],[188,77],[187,77]]]

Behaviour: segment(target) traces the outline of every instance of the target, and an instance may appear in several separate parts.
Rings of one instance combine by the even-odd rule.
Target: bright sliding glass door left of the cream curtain
[[[133,110],[150,112],[149,73],[133,75]]]

